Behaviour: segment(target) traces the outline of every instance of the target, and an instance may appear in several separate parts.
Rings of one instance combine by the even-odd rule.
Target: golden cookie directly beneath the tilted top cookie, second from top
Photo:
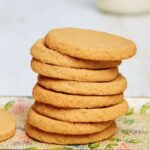
[[[70,57],[47,48],[44,39],[38,40],[32,46],[31,55],[41,62],[70,68],[105,69],[117,67],[121,63],[121,61],[89,61]]]

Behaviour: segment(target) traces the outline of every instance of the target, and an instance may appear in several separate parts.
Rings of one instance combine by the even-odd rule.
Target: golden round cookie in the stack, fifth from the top
[[[82,96],[58,93],[47,90],[38,84],[32,91],[36,101],[65,108],[107,107],[123,101],[123,94],[106,96]]]

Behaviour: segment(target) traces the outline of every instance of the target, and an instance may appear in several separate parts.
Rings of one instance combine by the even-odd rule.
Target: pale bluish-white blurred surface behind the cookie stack
[[[0,0],[1,96],[31,95],[36,74],[30,69],[30,47],[56,27],[96,29],[133,39],[138,53],[120,66],[129,82],[126,96],[150,96],[150,14],[103,14],[95,0]]]

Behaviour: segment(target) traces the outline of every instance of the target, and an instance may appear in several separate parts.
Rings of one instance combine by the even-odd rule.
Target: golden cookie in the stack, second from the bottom
[[[101,123],[72,123],[59,121],[38,114],[33,108],[30,109],[27,122],[42,131],[57,134],[93,134],[106,129],[112,121]]]

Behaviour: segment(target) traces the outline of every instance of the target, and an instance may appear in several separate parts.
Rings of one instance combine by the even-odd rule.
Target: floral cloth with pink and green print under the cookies
[[[16,135],[0,142],[0,149],[26,150],[149,150],[150,98],[127,98],[130,109],[117,119],[118,131],[110,139],[88,145],[54,145],[35,141],[24,132],[27,111],[33,103],[31,97],[0,97],[0,107],[13,113],[17,120]]]

